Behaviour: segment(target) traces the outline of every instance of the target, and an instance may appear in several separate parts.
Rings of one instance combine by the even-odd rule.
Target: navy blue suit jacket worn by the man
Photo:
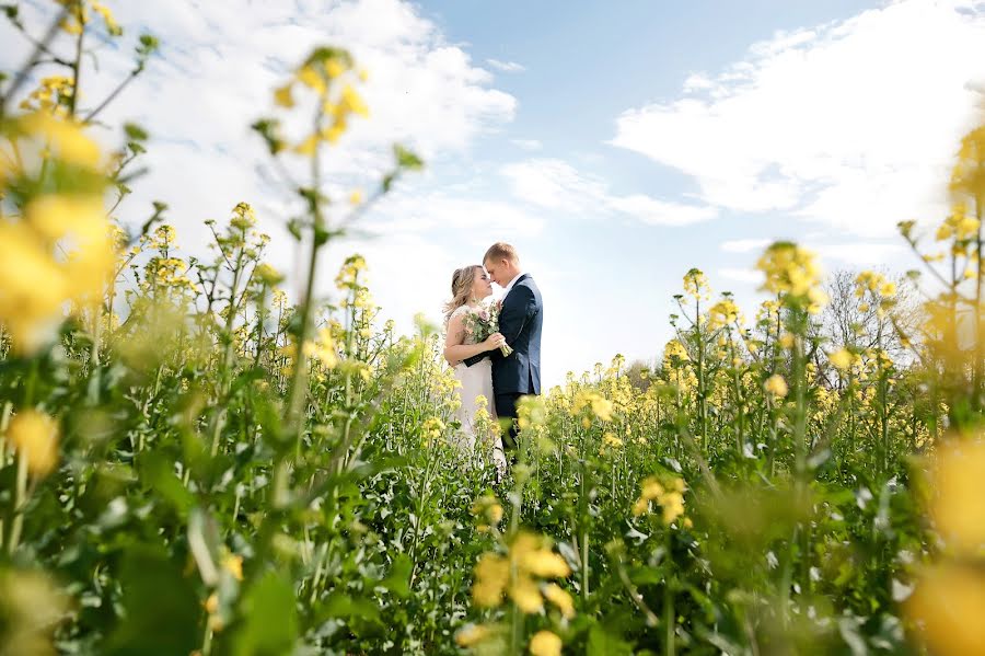
[[[541,393],[541,327],[544,304],[541,290],[528,274],[520,276],[499,312],[499,332],[513,353],[498,348],[465,360],[470,367],[484,357],[493,359],[493,389],[497,394]]]

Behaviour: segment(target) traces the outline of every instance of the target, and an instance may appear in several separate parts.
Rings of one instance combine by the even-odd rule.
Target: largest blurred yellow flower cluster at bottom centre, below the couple
[[[525,613],[543,611],[546,599],[563,614],[570,614],[573,605],[567,592],[560,587],[538,585],[538,579],[563,578],[570,574],[571,568],[565,560],[547,548],[543,538],[520,532],[510,543],[507,555],[486,553],[479,559],[472,597],[478,606],[494,608],[502,603],[506,595]]]

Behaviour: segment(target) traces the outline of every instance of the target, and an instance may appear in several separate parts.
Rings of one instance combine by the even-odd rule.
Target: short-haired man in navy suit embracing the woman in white
[[[541,325],[544,304],[541,290],[530,275],[520,268],[517,249],[496,242],[486,251],[483,266],[493,281],[506,289],[499,312],[499,332],[506,337],[513,353],[503,356],[498,348],[488,354],[493,359],[493,391],[496,395],[496,414],[510,419],[509,434],[502,438],[503,449],[517,453],[517,401],[520,396],[541,393]],[[479,361],[486,354],[468,358],[467,366]]]

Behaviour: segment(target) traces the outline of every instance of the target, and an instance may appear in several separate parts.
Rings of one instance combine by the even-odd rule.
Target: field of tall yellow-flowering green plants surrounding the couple
[[[755,308],[681,271],[674,337],[521,400],[500,477],[491,400],[454,446],[443,326],[399,334],[336,252],[427,168],[324,169],[373,71],[312,44],[251,126],[299,211],[243,197],[194,257],[167,198],[117,220],[154,126],[104,110],[158,39],[42,4],[3,8],[0,655],[985,654],[985,123],[951,211],[899,217],[917,271],[777,242]],[[105,97],[96,38],[134,53]]]

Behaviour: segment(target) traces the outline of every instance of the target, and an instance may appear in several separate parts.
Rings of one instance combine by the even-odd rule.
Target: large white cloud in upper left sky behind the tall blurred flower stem
[[[39,26],[37,7],[24,10]],[[240,199],[258,205],[268,199],[269,185],[255,170],[267,158],[248,126],[273,113],[273,89],[317,45],[348,48],[370,73],[360,88],[370,118],[354,120],[324,162],[326,175],[339,183],[379,177],[390,165],[393,142],[407,143],[426,159],[464,153],[515,112],[515,99],[495,89],[488,71],[401,0],[174,0],[123,2],[114,11],[127,37],[123,47],[102,48],[99,73],[88,68],[83,102],[97,102],[125,77],[135,36],[149,26],[162,43],[161,55],[113,103],[105,120],[136,119],[152,136],[142,161],[150,173],[135,185],[123,211],[142,211],[151,198],[162,198],[172,205],[179,229],[200,231],[204,219],[225,216]],[[50,13],[46,8],[45,16]],[[26,42],[5,24],[0,41],[26,50]],[[18,50],[4,48],[0,65],[19,65]]]

